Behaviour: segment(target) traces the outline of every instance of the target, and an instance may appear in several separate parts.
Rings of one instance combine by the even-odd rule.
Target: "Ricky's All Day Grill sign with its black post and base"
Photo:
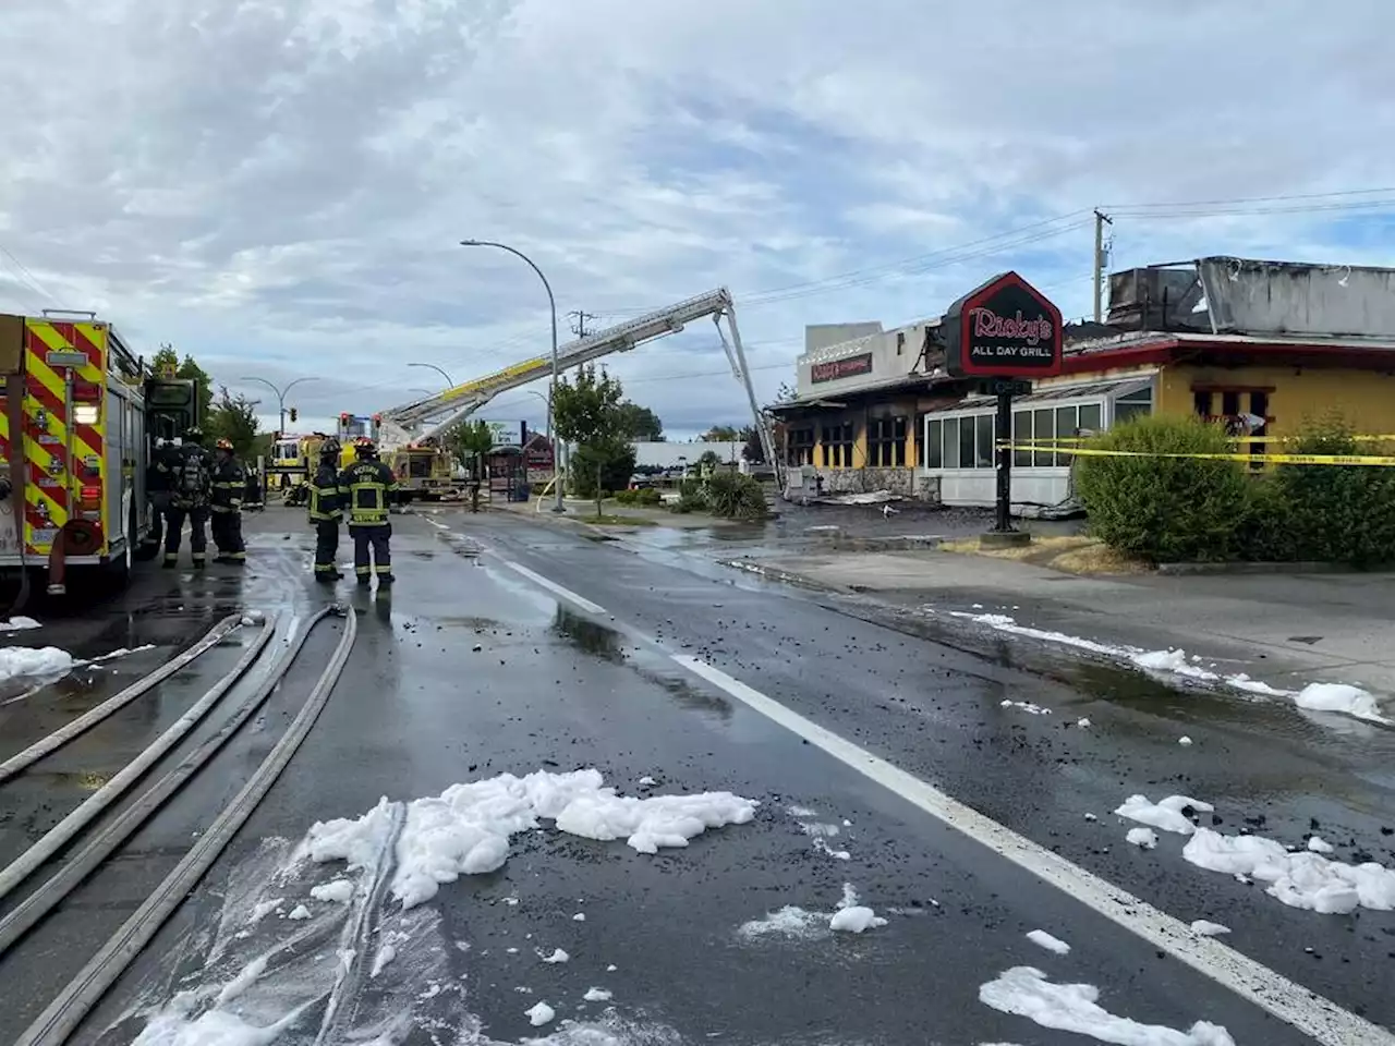
[[[997,512],[989,534],[1002,544],[1025,544],[1028,536],[1013,527],[1011,516],[1013,396],[1031,392],[1024,378],[1060,374],[1060,310],[1016,272],[1004,272],[950,305],[942,329],[944,370],[992,379],[983,391],[997,397]]]

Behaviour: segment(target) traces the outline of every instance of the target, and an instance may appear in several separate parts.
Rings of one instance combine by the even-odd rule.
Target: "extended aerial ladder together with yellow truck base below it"
[[[558,371],[562,372],[572,367],[580,367],[612,353],[629,351],[656,338],[678,333],[685,325],[706,317],[711,317],[711,322],[717,328],[717,336],[721,339],[721,347],[731,364],[731,371],[746,389],[752,421],[759,434],[766,462],[776,469],[777,480],[781,481],[780,485],[783,488],[783,467],[776,455],[770,420],[760,411],[756,403],[756,392],[751,385],[751,375],[746,368],[745,349],[741,344],[741,332],[737,328],[735,304],[725,287],[710,290],[706,294],[699,294],[686,301],[647,312],[635,319],[562,344],[557,350]],[[725,331],[723,329],[723,319],[725,319]],[[410,403],[371,417],[342,414],[340,428],[343,431],[340,435],[347,435],[350,430],[354,430],[357,434],[371,435],[378,441],[384,460],[389,462],[398,474],[398,484],[403,491],[403,497],[406,499],[431,497],[438,490],[437,483],[439,483],[439,477],[442,474],[449,477],[451,474],[449,453],[442,446],[445,434],[499,393],[529,385],[548,377],[551,372],[552,357],[537,356],[483,378],[456,385],[434,396],[412,400]],[[431,462],[432,464],[427,466],[421,464],[421,462]]]

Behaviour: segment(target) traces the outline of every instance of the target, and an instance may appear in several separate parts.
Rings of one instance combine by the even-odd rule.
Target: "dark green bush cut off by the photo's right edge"
[[[1328,414],[1307,423],[1285,453],[1385,455],[1391,448],[1359,442],[1352,427]],[[1350,566],[1395,561],[1395,474],[1360,464],[1281,464],[1274,485],[1285,502],[1295,552],[1290,558]]]

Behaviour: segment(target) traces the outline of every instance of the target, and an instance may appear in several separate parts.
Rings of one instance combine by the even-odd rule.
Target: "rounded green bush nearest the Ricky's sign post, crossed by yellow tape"
[[[1239,462],[1165,455],[1229,453],[1225,432],[1197,418],[1138,417],[1089,441],[1089,449],[1140,457],[1076,464],[1089,529],[1105,544],[1149,562],[1230,559],[1249,519],[1250,478]]]

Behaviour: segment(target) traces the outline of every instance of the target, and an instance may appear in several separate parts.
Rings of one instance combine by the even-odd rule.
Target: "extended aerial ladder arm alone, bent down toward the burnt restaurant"
[[[611,353],[629,351],[656,338],[678,333],[686,324],[703,317],[711,317],[713,324],[717,326],[717,335],[721,338],[721,346],[731,363],[732,374],[746,388],[746,399],[751,403],[752,418],[756,432],[760,435],[760,446],[764,450],[766,460],[773,463],[778,471],[770,421],[760,413],[760,407],[757,406],[756,393],[751,385],[751,375],[746,368],[746,354],[741,346],[741,333],[737,329],[737,310],[732,304],[731,293],[725,287],[710,290],[706,294],[679,301],[677,305],[649,312],[636,319],[617,324],[615,326],[559,346],[557,350],[558,370],[565,371],[579,367]],[[723,318],[727,321],[727,332],[731,336],[730,342],[727,332],[723,332]],[[505,367],[483,378],[467,381],[463,385],[456,385],[435,396],[385,410],[379,414],[379,437],[384,446],[403,446],[438,437],[499,393],[527,385],[551,372],[551,357],[538,356],[512,367]]]

